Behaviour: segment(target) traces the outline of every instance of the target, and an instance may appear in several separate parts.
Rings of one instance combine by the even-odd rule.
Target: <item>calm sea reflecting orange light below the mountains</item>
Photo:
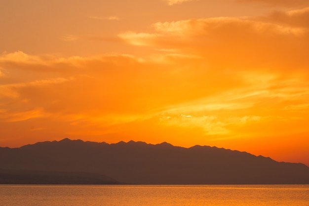
[[[309,185],[0,185],[0,206],[309,206]]]

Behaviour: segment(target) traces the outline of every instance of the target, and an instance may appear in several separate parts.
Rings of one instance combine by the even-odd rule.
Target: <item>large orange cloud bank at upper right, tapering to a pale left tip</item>
[[[195,54],[215,63],[216,67],[242,64],[241,67],[254,65],[288,70],[291,66],[304,69],[307,65],[307,28],[270,20],[228,17],[157,22],[153,27],[156,33],[129,32],[119,37],[133,45]]]

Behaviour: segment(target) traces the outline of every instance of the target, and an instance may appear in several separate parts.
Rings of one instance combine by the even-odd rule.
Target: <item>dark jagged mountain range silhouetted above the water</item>
[[[36,175],[37,184],[44,178],[46,184],[61,184],[59,176],[71,178],[63,184],[309,184],[309,167],[300,163],[166,142],[107,144],[66,138],[5,147],[0,148],[0,168],[2,184],[14,180],[14,174],[27,184],[36,184]]]

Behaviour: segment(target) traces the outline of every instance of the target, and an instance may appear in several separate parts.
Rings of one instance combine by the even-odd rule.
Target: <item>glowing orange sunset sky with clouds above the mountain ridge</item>
[[[169,142],[309,165],[308,0],[0,0],[0,147]]]

